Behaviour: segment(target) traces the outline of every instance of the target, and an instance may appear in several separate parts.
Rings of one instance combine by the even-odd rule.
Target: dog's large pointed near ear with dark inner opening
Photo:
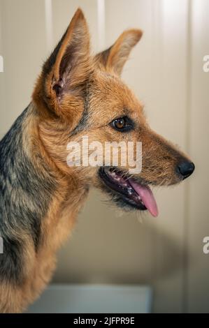
[[[38,107],[44,101],[50,112],[66,116],[71,105],[78,107],[90,72],[89,31],[79,8],[38,78],[33,94]]]

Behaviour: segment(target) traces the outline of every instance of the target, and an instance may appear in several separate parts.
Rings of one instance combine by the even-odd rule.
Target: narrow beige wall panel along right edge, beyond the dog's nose
[[[209,55],[208,17],[209,1],[193,0],[189,148],[196,172],[189,182],[188,311],[206,313],[209,311],[209,254],[203,253],[203,238],[209,236],[209,73],[203,72],[203,57]]]

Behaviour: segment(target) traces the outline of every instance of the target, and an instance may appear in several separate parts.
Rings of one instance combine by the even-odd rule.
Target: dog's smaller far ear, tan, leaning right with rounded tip
[[[96,54],[97,63],[106,70],[114,70],[117,75],[120,75],[131,49],[138,43],[142,35],[143,32],[140,29],[124,31],[112,47]]]

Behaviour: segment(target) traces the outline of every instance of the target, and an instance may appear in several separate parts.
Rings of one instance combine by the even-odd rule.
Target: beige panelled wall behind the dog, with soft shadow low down
[[[52,30],[50,15],[52,8]],[[156,191],[159,218],[121,216],[92,191],[71,240],[59,252],[56,282],[148,283],[155,312],[208,311],[208,0],[0,0],[0,134],[29,103],[50,45],[80,6],[95,51],[123,29],[144,37],[124,69],[124,80],[145,103],[152,128],[179,144],[196,163],[194,176]],[[100,8],[100,9],[99,9]]]

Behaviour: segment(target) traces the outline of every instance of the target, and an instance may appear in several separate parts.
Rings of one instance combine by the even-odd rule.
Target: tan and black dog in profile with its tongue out
[[[0,311],[20,313],[49,283],[56,252],[75,224],[91,186],[125,210],[158,209],[150,186],[178,184],[194,164],[148,126],[143,105],[120,75],[143,32],[124,31],[90,53],[78,8],[45,61],[32,100],[0,143]],[[140,173],[130,167],[67,165],[69,142],[142,142]],[[135,151],[136,155],[136,151]]]

